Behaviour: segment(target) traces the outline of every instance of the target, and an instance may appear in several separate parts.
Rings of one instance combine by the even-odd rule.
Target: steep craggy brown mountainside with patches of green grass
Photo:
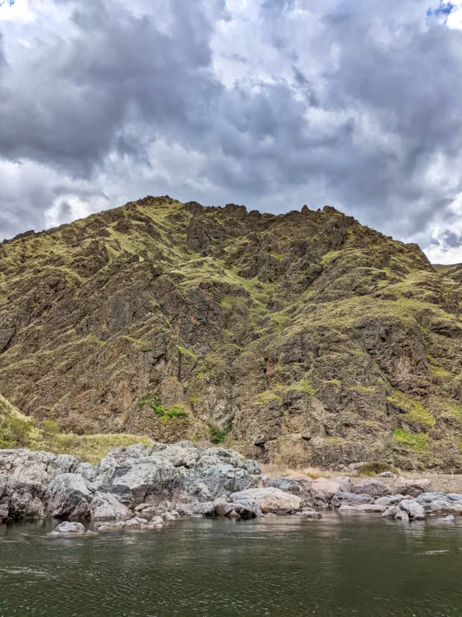
[[[460,281],[330,207],[146,197],[0,244],[0,393],[75,432],[451,469]]]

